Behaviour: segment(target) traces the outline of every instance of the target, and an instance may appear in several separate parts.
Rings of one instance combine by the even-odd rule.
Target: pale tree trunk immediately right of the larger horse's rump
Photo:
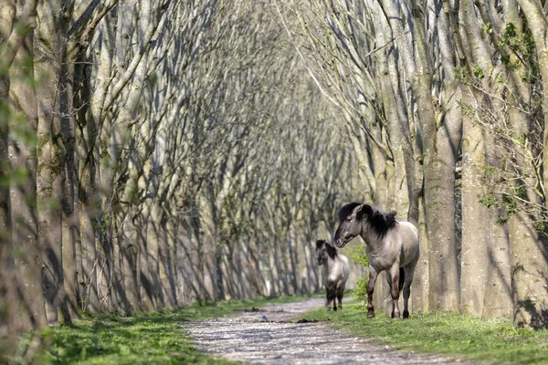
[[[425,9],[412,5],[415,16],[416,49],[406,40],[402,10],[392,1],[385,2],[385,12],[392,26],[402,57],[406,78],[416,98],[420,139],[424,156],[424,199],[428,238],[429,308],[458,308],[458,259],[455,237],[455,138],[450,125],[440,125],[432,108],[432,68],[427,55]],[[416,56],[414,56],[416,54]]]

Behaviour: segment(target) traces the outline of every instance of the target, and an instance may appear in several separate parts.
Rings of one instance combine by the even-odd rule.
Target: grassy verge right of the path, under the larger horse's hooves
[[[342,311],[313,309],[303,318],[328,320],[353,336],[374,339],[396,349],[503,364],[548,363],[548,330],[513,328],[510,319],[483,320],[458,313],[431,312],[408,319],[367,318],[367,309],[349,302]]]

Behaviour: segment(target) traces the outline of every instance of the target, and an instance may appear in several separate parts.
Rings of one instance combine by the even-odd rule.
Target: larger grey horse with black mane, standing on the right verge
[[[335,245],[343,247],[356,235],[365,242],[369,258],[367,283],[367,317],[374,317],[373,291],[376,278],[386,270],[392,296],[392,318],[399,318],[398,299],[404,289],[404,318],[409,317],[409,296],[415,266],[418,262],[418,230],[416,226],[395,219],[395,211],[382,212],[365,203],[348,203],[339,211],[339,227]]]

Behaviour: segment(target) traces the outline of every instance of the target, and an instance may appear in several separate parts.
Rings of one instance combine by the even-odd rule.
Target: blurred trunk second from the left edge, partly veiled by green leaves
[[[11,186],[12,244],[16,251],[14,287],[17,287],[22,302],[16,319],[26,329],[40,328],[46,323],[37,247],[37,99],[32,87],[32,49],[32,36],[26,36],[15,60],[16,68],[10,70],[14,113],[10,130],[18,138],[11,141],[9,156],[12,170],[21,174]]]

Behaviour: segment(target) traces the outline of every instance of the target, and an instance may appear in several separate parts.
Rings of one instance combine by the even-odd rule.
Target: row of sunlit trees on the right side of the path
[[[420,225],[415,310],[548,326],[546,9],[278,0],[368,200]]]

